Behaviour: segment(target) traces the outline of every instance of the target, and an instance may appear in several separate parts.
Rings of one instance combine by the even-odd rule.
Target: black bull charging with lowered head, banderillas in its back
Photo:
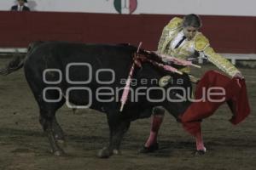
[[[187,101],[170,101],[177,99],[177,94],[183,95],[182,90],[172,87],[191,87],[186,74],[180,76],[143,62],[142,67],[135,68],[128,100],[124,110],[119,111],[120,96],[136,52],[136,47],[123,44],[39,42],[29,49],[25,59],[15,59],[1,73],[9,74],[24,66],[26,80],[38,102],[39,122],[55,155],[64,153],[58,144],[64,135],[55,112],[65,102],[69,106],[87,105],[105,112],[110,129],[109,145],[100,150],[98,156],[108,157],[119,153],[131,121],[151,116],[154,106],[163,106],[177,120],[189,106]],[[145,50],[140,50],[139,54],[161,62],[155,54]],[[158,81],[166,75],[171,75],[172,81],[160,88]]]

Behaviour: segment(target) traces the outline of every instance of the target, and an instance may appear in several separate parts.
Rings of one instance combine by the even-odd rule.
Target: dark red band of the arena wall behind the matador
[[[32,41],[130,42],[155,50],[173,15],[0,12],[0,47],[27,47]],[[256,17],[201,16],[201,31],[221,53],[256,54]]]

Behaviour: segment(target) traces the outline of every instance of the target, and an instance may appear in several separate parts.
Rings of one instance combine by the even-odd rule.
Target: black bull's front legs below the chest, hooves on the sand
[[[129,121],[112,121],[108,119],[108,126],[110,129],[110,142],[108,147],[104,147],[99,151],[98,156],[100,158],[108,158],[113,154],[119,154],[119,146],[124,134],[130,127]]]

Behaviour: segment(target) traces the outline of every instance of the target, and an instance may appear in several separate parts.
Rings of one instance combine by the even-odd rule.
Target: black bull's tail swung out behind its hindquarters
[[[27,48],[26,55],[25,56],[20,56],[20,55],[15,56],[15,58],[12,59],[8,65],[6,65],[4,68],[0,69],[0,75],[6,76],[6,75],[9,75],[10,73],[12,73],[14,71],[18,71],[20,68],[22,68],[28,54],[30,54],[32,52],[32,49],[37,47],[38,44],[40,44],[40,43],[42,43],[42,42],[30,43]]]

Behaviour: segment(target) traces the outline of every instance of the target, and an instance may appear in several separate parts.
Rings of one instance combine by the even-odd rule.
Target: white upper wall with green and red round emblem
[[[256,16],[256,0],[27,0],[33,11]],[[15,0],[0,0],[9,10]]]

